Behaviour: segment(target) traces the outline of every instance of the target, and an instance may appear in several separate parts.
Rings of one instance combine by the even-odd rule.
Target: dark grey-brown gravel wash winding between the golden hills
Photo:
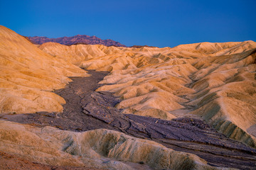
[[[5,115],[17,123],[53,126],[62,130],[86,131],[105,128],[141,137],[171,149],[197,154],[213,166],[252,169],[256,149],[230,140],[202,120],[177,118],[160,120],[139,115],[121,114],[114,106],[119,98],[106,91],[96,92],[97,84],[108,73],[88,70],[91,77],[73,77],[65,89],[55,91],[65,98],[63,113]]]

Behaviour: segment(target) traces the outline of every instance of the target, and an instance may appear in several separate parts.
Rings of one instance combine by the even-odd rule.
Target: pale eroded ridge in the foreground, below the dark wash
[[[53,166],[132,170],[136,166],[127,162],[144,162],[151,169],[221,169],[209,166],[194,154],[174,151],[122,132],[104,129],[71,132],[5,120],[0,120],[0,150]]]

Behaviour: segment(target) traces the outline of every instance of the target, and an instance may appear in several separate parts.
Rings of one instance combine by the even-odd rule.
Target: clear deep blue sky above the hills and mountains
[[[0,0],[0,25],[25,36],[95,35],[127,46],[256,41],[256,0]]]

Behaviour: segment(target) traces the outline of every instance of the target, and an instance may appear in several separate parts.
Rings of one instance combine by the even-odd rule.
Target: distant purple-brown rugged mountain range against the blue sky
[[[74,44],[88,44],[88,45],[105,45],[105,46],[117,46],[117,47],[126,47],[121,43],[114,40],[102,40],[96,36],[89,35],[75,35],[73,37],[62,37],[62,38],[47,38],[47,37],[27,37],[31,42],[35,44],[43,44],[45,42],[58,42],[63,45],[74,45]]]

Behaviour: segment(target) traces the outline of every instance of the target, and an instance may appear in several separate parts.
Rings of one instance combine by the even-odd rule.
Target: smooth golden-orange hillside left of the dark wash
[[[57,59],[9,28],[0,26],[0,112],[62,111],[65,103],[51,93],[87,75],[70,62]]]

